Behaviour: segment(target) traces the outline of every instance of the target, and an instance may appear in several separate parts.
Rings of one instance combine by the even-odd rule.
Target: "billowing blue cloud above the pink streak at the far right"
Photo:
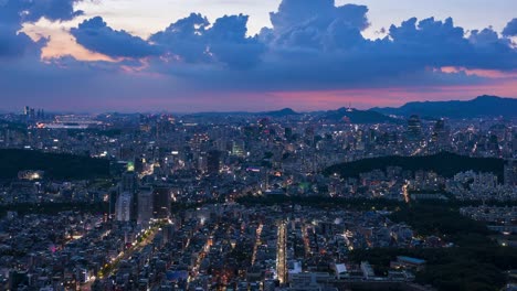
[[[517,68],[517,51],[507,40],[499,39],[492,29],[474,30],[466,37],[463,28],[454,26],[451,18],[420,22],[413,18],[400,26],[391,25],[388,37],[390,41],[379,54],[389,52],[392,57],[420,67]]]

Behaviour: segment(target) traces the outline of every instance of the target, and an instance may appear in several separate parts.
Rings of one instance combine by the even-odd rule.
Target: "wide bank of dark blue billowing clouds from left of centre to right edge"
[[[493,29],[466,33],[451,18],[412,18],[391,25],[383,39],[368,40],[362,35],[367,13],[365,6],[337,7],[333,0],[283,0],[271,13],[273,26],[256,36],[246,36],[246,15],[225,15],[211,24],[192,13],[149,37],[160,55],[150,57],[148,69],[191,87],[254,91],[479,84],[481,77],[444,74],[441,67],[517,69],[517,51]],[[104,22],[95,31],[98,26],[104,34],[118,33]],[[126,37],[86,47],[122,55],[135,46]],[[106,46],[113,51],[99,50]]]

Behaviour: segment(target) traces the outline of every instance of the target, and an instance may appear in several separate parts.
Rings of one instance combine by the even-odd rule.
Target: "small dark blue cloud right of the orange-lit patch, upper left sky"
[[[159,54],[156,46],[143,39],[107,26],[101,17],[85,20],[71,33],[84,47],[112,57],[141,58]]]

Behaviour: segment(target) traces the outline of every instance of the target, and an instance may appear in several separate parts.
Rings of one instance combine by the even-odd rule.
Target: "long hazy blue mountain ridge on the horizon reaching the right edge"
[[[517,99],[497,96],[479,96],[468,101],[424,101],[408,103],[399,108],[372,108],[384,115],[445,118],[476,118],[476,117],[517,117]]]

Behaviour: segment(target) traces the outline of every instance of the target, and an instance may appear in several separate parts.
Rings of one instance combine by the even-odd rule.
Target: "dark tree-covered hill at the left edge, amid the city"
[[[24,170],[41,170],[56,180],[109,176],[109,161],[88,157],[9,149],[0,150],[0,179],[14,179]]]

